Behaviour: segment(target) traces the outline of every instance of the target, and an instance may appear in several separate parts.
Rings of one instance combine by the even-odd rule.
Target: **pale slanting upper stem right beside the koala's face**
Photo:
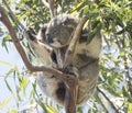
[[[75,33],[74,33],[74,36],[70,41],[70,44],[66,50],[66,54],[65,54],[65,61],[64,61],[64,68],[69,65],[69,63],[72,63],[73,60],[73,55],[74,55],[74,52],[75,52],[75,48],[76,48],[76,44],[77,44],[77,41],[79,39],[80,37],[80,33],[81,33],[81,30],[82,30],[82,26],[84,24],[86,23],[86,21],[88,20],[87,16],[82,18],[79,20],[79,23],[75,30]]]

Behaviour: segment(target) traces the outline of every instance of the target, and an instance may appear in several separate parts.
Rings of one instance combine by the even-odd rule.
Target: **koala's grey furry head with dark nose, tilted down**
[[[78,19],[63,14],[53,18],[47,24],[46,29],[43,27],[41,35],[45,42],[53,47],[64,47],[69,44],[72,35],[77,26]]]

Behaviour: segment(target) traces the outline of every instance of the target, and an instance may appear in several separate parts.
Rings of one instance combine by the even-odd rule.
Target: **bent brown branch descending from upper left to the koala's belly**
[[[16,50],[19,52],[19,54],[21,55],[22,60],[23,60],[23,63],[25,64],[25,66],[26,66],[26,68],[28,68],[29,70],[31,70],[31,71],[45,71],[45,72],[48,72],[48,74],[54,75],[56,78],[58,78],[58,79],[61,79],[61,80],[63,80],[63,81],[66,81],[66,82],[67,82],[67,81],[70,81],[70,78],[69,78],[67,75],[65,75],[65,74],[63,74],[62,71],[59,71],[59,70],[56,70],[56,69],[53,69],[53,68],[48,68],[48,67],[44,67],[44,66],[41,66],[41,67],[38,67],[38,66],[33,66],[33,65],[29,61],[29,59],[28,59],[28,57],[26,57],[26,54],[25,54],[23,47],[21,46],[21,44],[20,44],[20,42],[19,42],[19,39],[18,39],[18,37],[16,37],[15,31],[14,31],[13,26],[11,25],[11,22],[10,22],[8,15],[6,14],[4,9],[3,9],[1,5],[0,5],[0,14],[1,14],[0,21],[1,21],[1,22],[7,26],[7,29],[9,30],[10,35],[11,35],[12,41],[13,41],[13,44],[14,44]]]

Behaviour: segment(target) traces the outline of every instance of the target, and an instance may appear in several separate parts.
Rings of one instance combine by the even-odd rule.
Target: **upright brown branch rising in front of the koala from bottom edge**
[[[87,21],[86,16],[80,19],[79,23],[74,32],[73,38],[72,38],[70,44],[69,44],[69,46],[66,50],[66,54],[65,54],[64,69],[73,60],[72,58],[73,58],[73,55],[75,52],[75,47],[76,47],[78,38],[80,37],[80,33],[81,33],[82,26],[84,26],[86,21]],[[67,99],[65,101],[66,113],[76,113],[76,101],[77,101],[77,93],[78,93],[78,78],[74,77],[74,80],[72,81],[72,83],[69,82],[68,86],[66,86],[66,88],[67,88],[66,95],[68,94],[68,97],[65,98],[65,99]]]

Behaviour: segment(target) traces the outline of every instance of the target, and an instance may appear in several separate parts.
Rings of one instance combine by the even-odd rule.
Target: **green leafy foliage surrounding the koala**
[[[25,26],[32,26],[36,32],[40,25],[50,21],[50,11],[43,5],[41,0],[18,0],[10,1],[10,7],[15,8],[15,16]],[[2,3],[1,3],[2,4]],[[6,7],[4,4],[2,4]],[[132,1],[131,0],[56,0],[57,12],[70,13],[76,16],[87,15],[92,23],[88,42],[90,42],[98,31],[102,31],[103,48],[100,59],[100,77],[98,81],[98,88],[95,95],[89,100],[88,113],[102,113],[102,112],[120,112],[131,113],[132,108]],[[8,13],[8,10],[7,10]],[[10,14],[9,14],[10,16]],[[10,16],[11,18],[11,16]],[[30,54],[26,42],[21,37],[21,30],[18,24],[12,21],[14,27],[18,31],[18,35],[21,38],[28,54],[31,59],[36,59],[34,55]],[[20,35],[21,34],[21,35]],[[11,42],[10,36],[4,31],[4,27],[0,27],[0,35],[3,36],[1,45],[8,50],[7,42]],[[10,54],[10,52],[9,52]],[[7,64],[6,61],[0,61]],[[36,63],[38,64],[37,59]],[[47,103],[42,103],[38,93],[36,92],[36,83],[31,83],[26,77],[28,71],[23,77],[18,67],[13,66],[7,75],[4,80],[7,88],[12,95],[18,100],[16,104],[22,102],[22,98],[25,97],[25,92],[29,86],[32,86],[30,90],[29,101],[30,104],[38,103],[44,111],[50,113],[56,113],[56,110],[48,106]],[[13,74],[15,82],[15,91],[12,90],[11,84],[8,82],[8,77]],[[12,97],[0,102],[0,108],[6,106],[8,102],[12,100]],[[103,102],[105,101],[105,102]],[[51,104],[50,104],[51,105]],[[88,106],[88,105],[87,105]],[[57,111],[61,110],[56,106]],[[13,111],[13,110],[12,110]],[[14,110],[15,111],[15,110]],[[84,109],[79,108],[78,113]],[[15,112],[11,112],[15,113]]]

